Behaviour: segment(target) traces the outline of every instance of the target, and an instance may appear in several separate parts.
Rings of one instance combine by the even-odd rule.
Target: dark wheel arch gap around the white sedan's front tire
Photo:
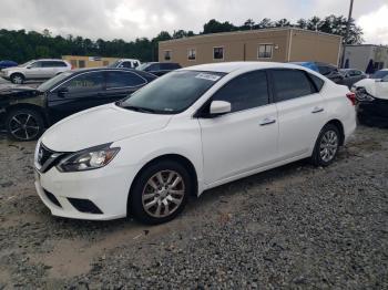
[[[129,191],[129,197],[127,197],[127,201],[126,201],[126,208],[129,208],[130,203],[131,203],[131,196],[132,196],[132,191],[133,191],[133,187],[135,182],[137,180],[137,178],[140,177],[140,175],[144,172],[145,168],[147,168],[149,166],[161,162],[161,160],[174,160],[176,163],[180,163],[181,165],[183,165],[187,170],[188,170],[188,175],[192,177],[192,182],[194,184],[194,190],[192,191],[193,196],[197,196],[198,193],[198,178],[197,178],[197,173],[195,169],[194,164],[185,156],[180,155],[180,154],[164,154],[161,156],[157,156],[153,159],[151,159],[150,162],[147,162],[135,175],[135,177],[133,178],[133,182],[131,184],[130,187],[130,191]]]

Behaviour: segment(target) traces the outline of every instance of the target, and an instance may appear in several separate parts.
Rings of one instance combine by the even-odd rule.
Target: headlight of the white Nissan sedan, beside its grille
[[[114,156],[119,153],[119,147],[110,147],[110,144],[104,144],[95,147],[91,147],[84,151],[80,151],[63,158],[57,168],[60,172],[84,172],[104,167],[108,165]]]

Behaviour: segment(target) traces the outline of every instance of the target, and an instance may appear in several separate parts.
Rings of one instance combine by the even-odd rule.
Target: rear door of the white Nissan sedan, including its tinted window
[[[270,75],[278,112],[279,157],[285,160],[305,155],[325,125],[325,100],[305,71],[270,70]]]

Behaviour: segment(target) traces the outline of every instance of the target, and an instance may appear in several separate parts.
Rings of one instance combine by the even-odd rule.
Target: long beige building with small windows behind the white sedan
[[[341,37],[296,28],[196,35],[159,43],[161,62],[320,61],[337,65]]]

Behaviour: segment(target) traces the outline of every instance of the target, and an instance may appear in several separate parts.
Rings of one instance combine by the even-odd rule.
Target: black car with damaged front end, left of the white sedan
[[[63,72],[38,89],[8,87],[0,91],[0,126],[14,139],[35,139],[44,127],[124,99],[155,79],[146,72],[100,68]]]

